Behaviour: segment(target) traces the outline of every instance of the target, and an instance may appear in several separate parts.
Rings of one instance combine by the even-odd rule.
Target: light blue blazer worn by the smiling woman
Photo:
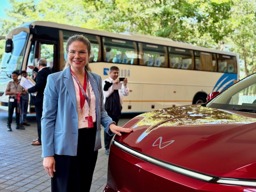
[[[86,70],[96,99],[97,133],[94,150],[101,148],[100,124],[110,135],[114,123],[104,108],[101,77]],[[76,92],[70,66],[48,76],[44,90],[42,125],[42,157],[57,155],[76,156],[78,115]]]

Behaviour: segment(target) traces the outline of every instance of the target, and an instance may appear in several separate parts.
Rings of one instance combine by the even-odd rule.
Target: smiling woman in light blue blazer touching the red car
[[[42,157],[52,177],[52,191],[90,191],[100,124],[110,135],[131,132],[116,126],[103,104],[101,77],[88,71],[91,44],[82,35],[69,37],[68,66],[48,76],[44,90]]]

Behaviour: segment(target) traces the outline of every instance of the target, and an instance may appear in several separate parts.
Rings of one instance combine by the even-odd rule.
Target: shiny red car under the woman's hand
[[[253,74],[205,104],[134,117],[112,140],[104,191],[256,192],[255,102]]]

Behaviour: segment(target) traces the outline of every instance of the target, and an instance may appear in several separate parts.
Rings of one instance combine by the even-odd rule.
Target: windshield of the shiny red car
[[[256,74],[245,77],[230,86],[205,106],[256,113]]]

